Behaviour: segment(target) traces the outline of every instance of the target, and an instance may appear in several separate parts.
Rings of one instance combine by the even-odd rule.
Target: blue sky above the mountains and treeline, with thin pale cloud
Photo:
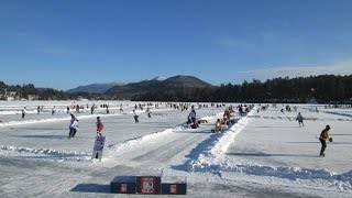
[[[351,0],[0,0],[0,80],[352,74]]]

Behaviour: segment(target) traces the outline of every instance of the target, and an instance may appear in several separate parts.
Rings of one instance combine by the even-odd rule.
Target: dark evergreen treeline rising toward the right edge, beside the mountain
[[[242,85],[221,85],[187,91],[150,91],[134,96],[140,101],[205,101],[205,102],[309,102],[341,101],[352,98],[352,75],[321,75],[296,78],[273,78],[265,82],[253,79]]]

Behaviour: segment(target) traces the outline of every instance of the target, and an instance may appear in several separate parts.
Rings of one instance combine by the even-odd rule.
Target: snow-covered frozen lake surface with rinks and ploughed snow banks
[[[132,113],[138,102],[75,103],[108,103],[110,113],[103,108],[95,114],[90,109],[75,112],[80,130],[67,139],[66,107],[74,101],[0,102],[0,197],[144,197],[109,194],[116,176],[138,175],[186,178],[186,197],[352,197],[352,109],[317,106],[316,112],[312,105],[292,105],[297,112],[282,113],[282,105],[265,111],[255,106],[228,131],[211,133],[224,107],[196,105],[197,117],[208,123],[186,129],[189,110],[161,102],[153,102],[158,108],[153,106],[152,118],[145,109],[138,111],[139,123]],[[305,127],[295,120],[298,111]],[[91,160],[97,116],[107,136],[101,162]],[[317,135],[326,124],[333,142],[319,157]]]

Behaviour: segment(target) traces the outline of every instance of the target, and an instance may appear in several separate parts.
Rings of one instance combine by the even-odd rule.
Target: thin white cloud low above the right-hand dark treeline
[[[253,78],[265,81],[275,77],[307,77],[318,75],[351,75],[352,61],[337,63],[324,66],[290,66],[290,67],[272,67],[266,69],[245,70],[239,73],[242,79],[252,81]]]

